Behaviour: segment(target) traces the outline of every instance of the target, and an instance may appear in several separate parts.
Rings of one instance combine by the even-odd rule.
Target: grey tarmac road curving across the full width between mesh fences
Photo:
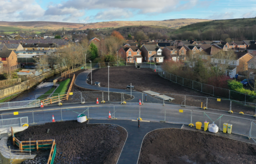
[[[58,107],[47,110],[19,111],[19,115],[29,117],[29,124],[52,122],[52,115],[55,121],[75,120],[77,113],[86,114],[89,119],[107,119],[109,111],[114,119],[137,119],[155,120],[169,123],[194,124],[207,120],[214,122],[222,130],[223,124],[232,124],[232,132],[242,134],[256,140],[255,119],[235,117],[233,115],[218,114],[214,112],[188,110],[182,108],[170,108],[159,104],[143,105],[84,105],[79,107]],[[13,112],[2,113],[3,119],[13,116]]]

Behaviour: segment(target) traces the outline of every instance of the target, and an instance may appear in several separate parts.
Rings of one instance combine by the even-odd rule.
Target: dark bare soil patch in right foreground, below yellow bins
[[[256,145],[182,129],[145,136],[138,164],[256,164]]]

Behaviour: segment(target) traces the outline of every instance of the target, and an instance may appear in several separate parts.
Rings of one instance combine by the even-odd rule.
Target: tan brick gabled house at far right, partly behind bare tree
[[[236,55],[235,60],[229,61],[229,67],[226,70],[226,74],[229,75],[230,78],[235,77],[239,72],[244,72],[248,70],[248,61],[253,58],[248,52],[234,52]],[[227,64],[226,60],[211,58],[211,63],[213,64]]]

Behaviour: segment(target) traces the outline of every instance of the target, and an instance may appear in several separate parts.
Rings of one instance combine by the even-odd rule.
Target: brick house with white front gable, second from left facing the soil
[[[164,62],[162,49],[158,45],[143,45],[140,49],[143,62]]]

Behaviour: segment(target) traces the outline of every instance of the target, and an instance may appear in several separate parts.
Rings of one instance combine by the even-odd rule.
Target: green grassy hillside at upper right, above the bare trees
[[[194,30],[211,30],[211,29],[225,29],[225,28],[243,28],[243,27],[252,27],[256,25],[256,18],[242,18],[242,19],[227,19],[227,20],[214,20],[214,21],[205,21],[197,22],[184,27],[181,27],[178,30],[175,30],[173,33],[178,34],[184,31],[194,31]]]

